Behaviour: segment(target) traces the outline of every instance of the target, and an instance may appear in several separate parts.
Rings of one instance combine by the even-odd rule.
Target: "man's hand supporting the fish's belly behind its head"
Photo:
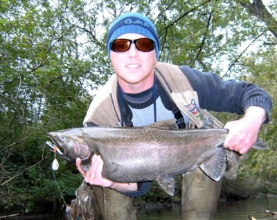
[[[137,183],[116,183],[108,180],[102,176],[102,169],[104,163],[99,155],[93,155],[91,158],[91,167],[89,172],[84,172],[81,167],[81,159],[76,159],[77,168],[84,177],[84,181],[90,185],[98,185],[100,187],[110,187],[111,189],[124,191],[135,191],[137,190]]]

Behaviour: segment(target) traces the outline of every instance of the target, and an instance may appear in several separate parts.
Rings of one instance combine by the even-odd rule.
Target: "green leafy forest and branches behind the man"
[[[265,4],[266,3],[266,4]],[[159,61],[247,80],[268,91],[271,122],[222,196],[247,198],[277,192],[277,3],[223,0],[0,0],[0,212],[30,213],[75,199],[82,177],[44,145],[46,133],[82,127],[99,86],[113,73],[107,29],[123,12],[137,11],[157,26]],[[227,122],[235,114],[215,113]],[[55,175],[54,175],[55,174]],[[137,203],[178,202],[155,186]]]

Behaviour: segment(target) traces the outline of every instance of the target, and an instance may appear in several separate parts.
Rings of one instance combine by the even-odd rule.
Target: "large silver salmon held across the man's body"
[[[111,181],[157,180],[173,194],[173,176],[197,167],[219,181],[225,163],[222,147],[227,129],[171,129],[163,122],[148,127],[87,127],[50,132],[46,145],[69,161],[82,159],[84,169],[98,154],[102,175]],[[88,167],[86,167],[88,166]]]

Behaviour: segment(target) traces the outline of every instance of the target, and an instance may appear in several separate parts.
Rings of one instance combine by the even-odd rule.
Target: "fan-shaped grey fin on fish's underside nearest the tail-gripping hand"
[[[226,163],[224,147],[218,147],[215,154],[199,165],[200,169],[214,181],[222,177],[222,169]]]

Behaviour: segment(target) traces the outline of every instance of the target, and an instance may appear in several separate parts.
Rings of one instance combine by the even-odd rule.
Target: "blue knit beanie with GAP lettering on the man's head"
[[[156,57],[158,59],[160,42],[157,35],[157,30],[150,19],[137,12],[128,12],[124,15],[120,15],[109,27],[109,32],[107,35],[108,57],[111,51],[111,42],[120,35],[127,33],[144,35],[145,37],[152,39],[155,43]]]

